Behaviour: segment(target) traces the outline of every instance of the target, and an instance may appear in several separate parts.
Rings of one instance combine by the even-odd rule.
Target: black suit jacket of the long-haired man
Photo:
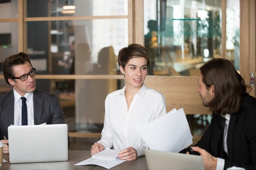
[[[217,157],[220,116],[213,114],[211,124],[195,146]],[[182,150],[182,153],[189,148]],[[247,95],[239,112],[231,115],[227,132],[228,159],[224,169],[237,166],[256,170],[256,99]]]

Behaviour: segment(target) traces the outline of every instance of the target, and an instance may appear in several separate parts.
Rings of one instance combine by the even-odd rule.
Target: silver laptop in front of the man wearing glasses
[[[10,163],[67,161],[67,124],[9,126]]]

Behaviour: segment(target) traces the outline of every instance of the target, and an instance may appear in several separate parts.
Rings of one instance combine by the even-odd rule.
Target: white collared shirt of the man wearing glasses
[[[13,88],[14,94],[14,125],[21,126],[21,107],[22,107],[22,97]],[[34,102],[33,102],[33,92],[26,93],[23,97],[26,97],[27,104],[27,125],[34,125]]]

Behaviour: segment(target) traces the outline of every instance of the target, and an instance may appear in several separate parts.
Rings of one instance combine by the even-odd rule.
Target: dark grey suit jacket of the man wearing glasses
[[[57,95],[36,89],[33,95],[34,124],[65,124],[63,110]],[[13,90],[0,97],[0,139],[8,139],[8,126],[14,124]]]

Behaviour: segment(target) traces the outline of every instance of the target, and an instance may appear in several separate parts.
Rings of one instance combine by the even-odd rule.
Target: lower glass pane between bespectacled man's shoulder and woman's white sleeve
[[[37,88],[41,89],[39,84],[48,86],[45,82],[51,81],[51,79],[36,79]],[[109,89],[111,81],[116,83],[112,90]],[[55,80],[56,84],[67,82],[67,80]],[[62,91],[57,88],[52,91],[59,97],[69,132],[101,132],[105,115],[105,99],[108,93],[123,88],[121,84],[124,84],[124,80],[76,79],[75,83],[76,93],[68,91],[65,86]]]

